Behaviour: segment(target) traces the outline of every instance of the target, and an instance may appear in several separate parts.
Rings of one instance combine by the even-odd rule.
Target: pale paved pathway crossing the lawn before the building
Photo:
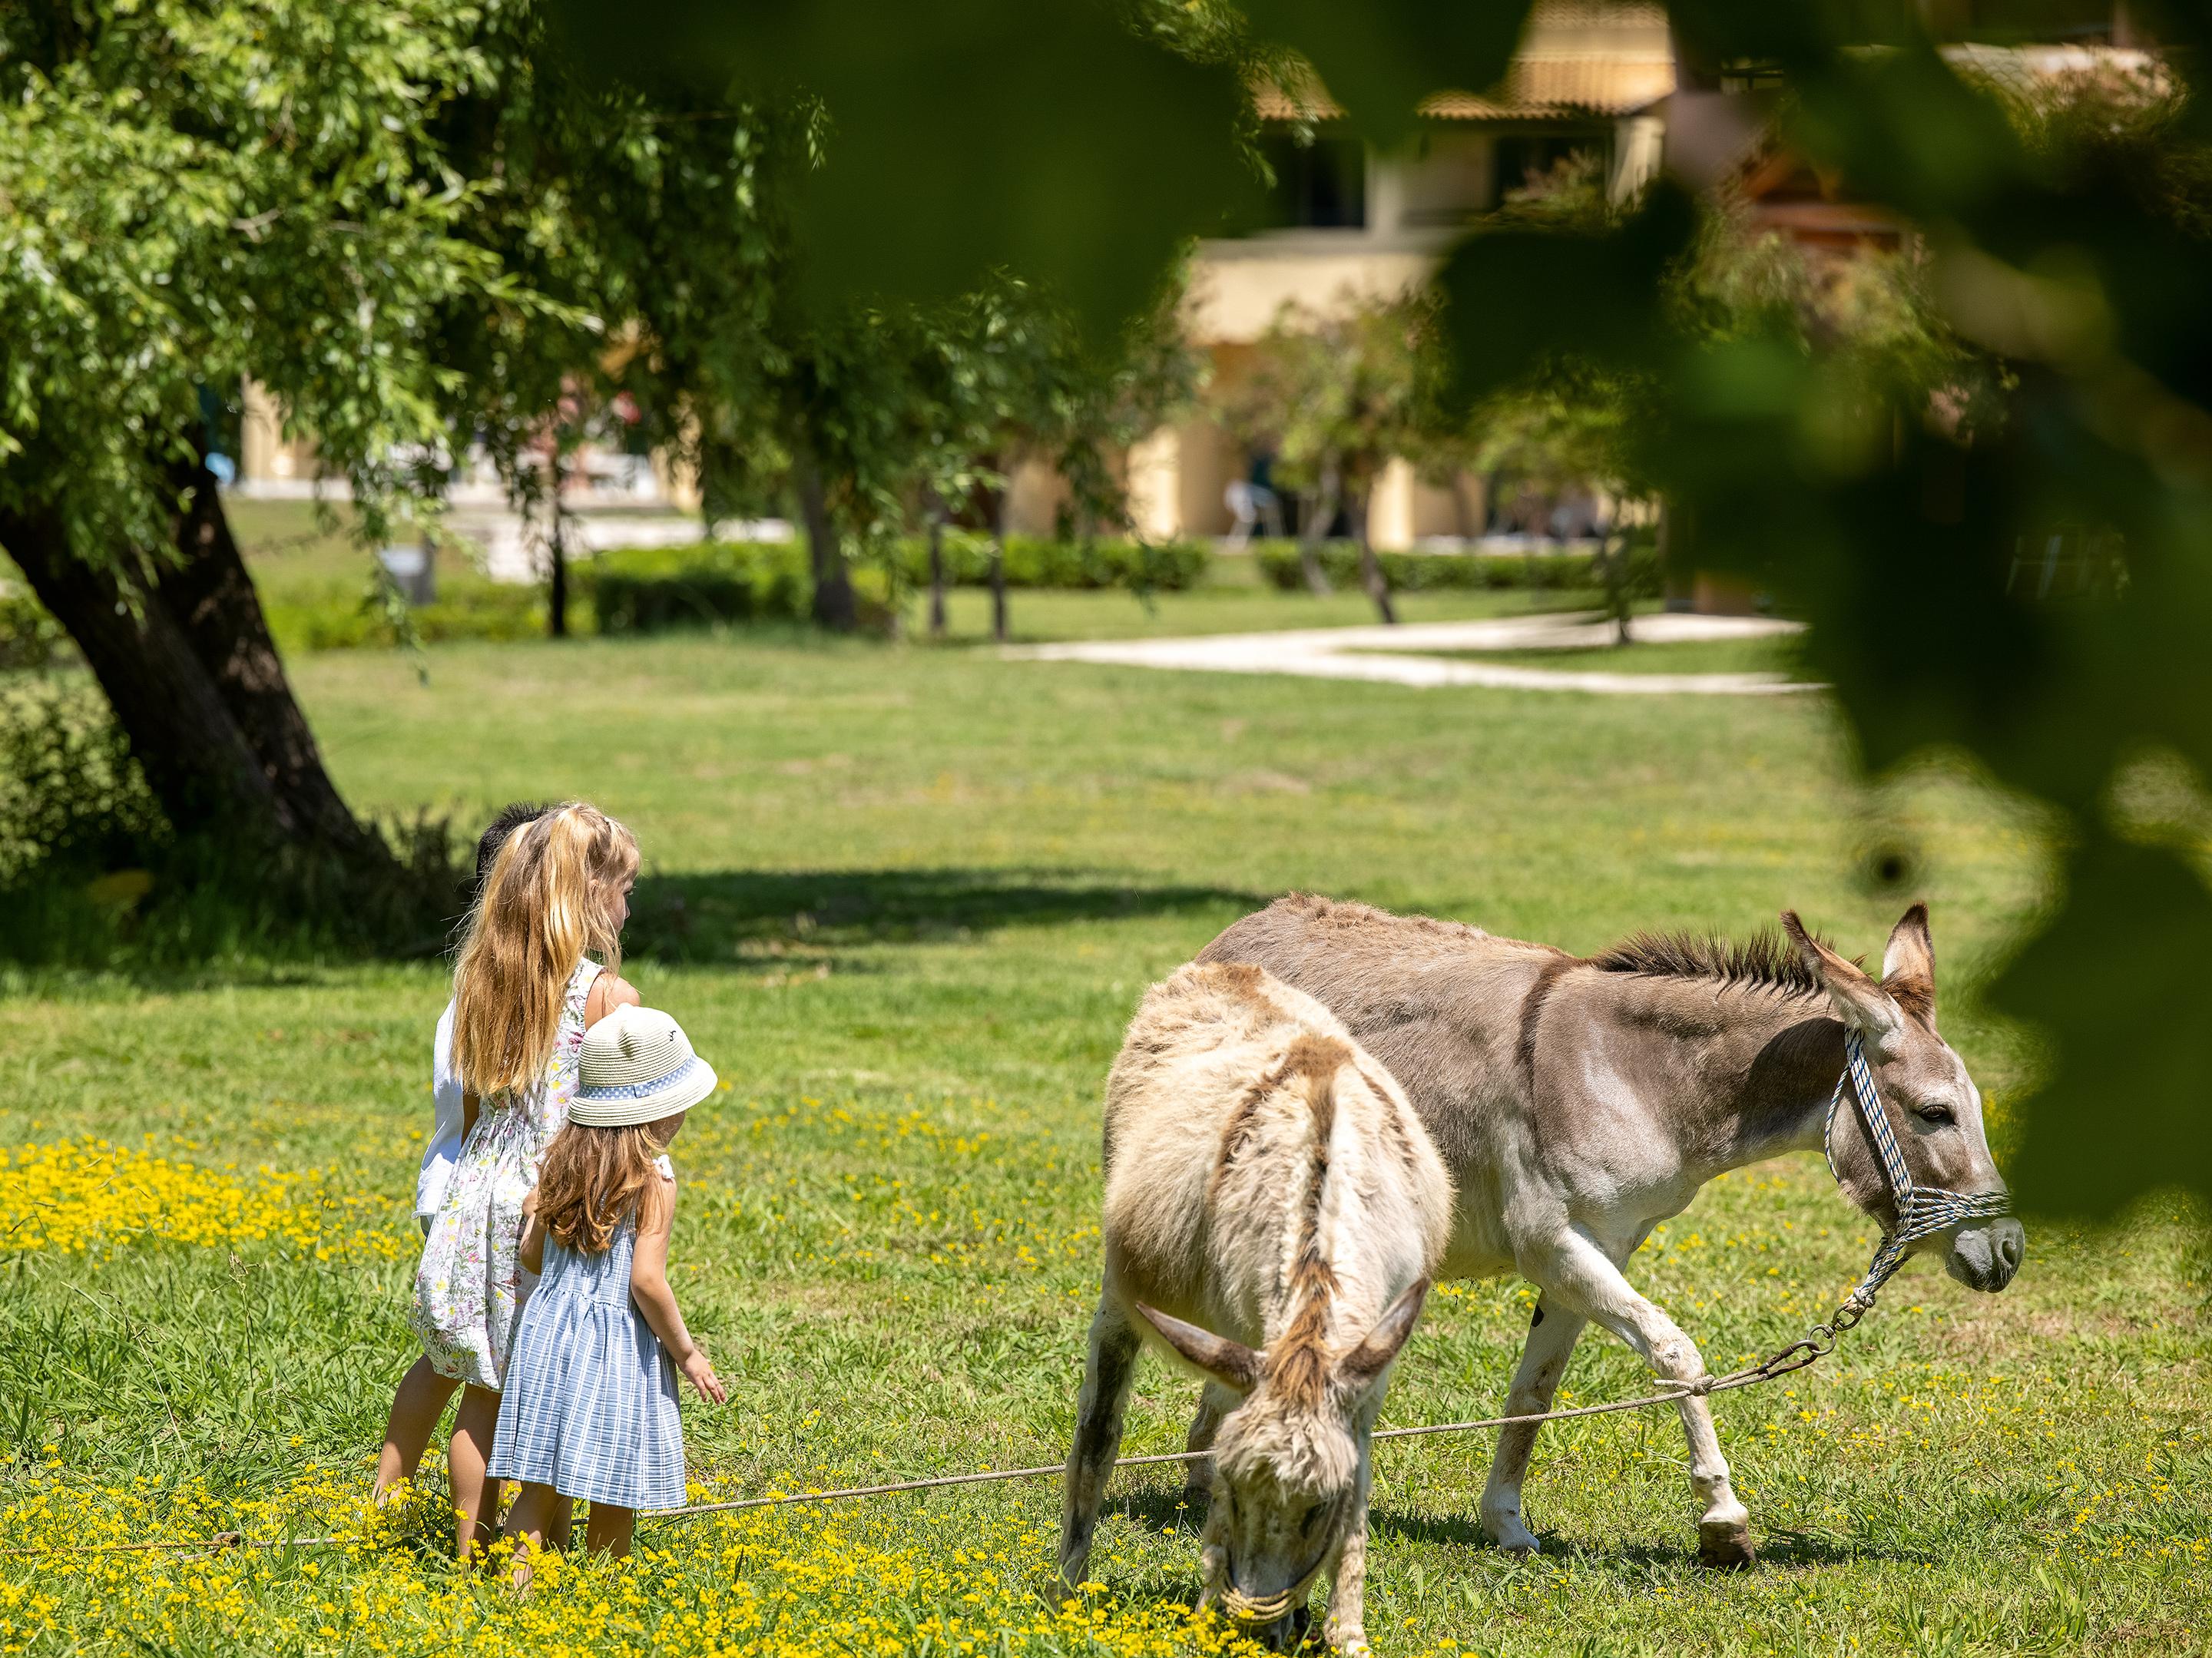
[[[1770,617],[1637,617],[1644,643],[1692,639],[1761,639],[1796,632],[1796,621]],[[1491,685],[1500,690],[1573,690],[1610,696],[1772,696],[1818,690],[1781,674],[1610,674],[1573,668],[1513,668],[1511,663],[1422,657],[1425,650],[1571,650],[1604,646],[1613,623],[1595,612],[1506,617],[1500,621],[1413,621],[1398,628],[1303,628],[1294,632],[1230,632],[1197,639],[1086,639],[1066,646],[1024,646],[1009,654],[1031,661],[1093,661],[1128,668],[1183,668],[1214,674],[1305,674],[1310,679],[1371,679],[1387,685]]]

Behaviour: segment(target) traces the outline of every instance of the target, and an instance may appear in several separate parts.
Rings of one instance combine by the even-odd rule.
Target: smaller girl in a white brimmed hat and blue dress
[[[520,1479],[507,1534],[531,1581],[564,1499],[591,1503],[588,1550],[630,1552],[639,1508],[684,1505],[677,1371],[728,1395],[668,1289],[677,1176],[668,1143],[714,1072],[666,1012],[617,1008],[584,1035],[568,1127],[546,1147],[522,1234],[544,1276],[515,1324],[491,1477]]]

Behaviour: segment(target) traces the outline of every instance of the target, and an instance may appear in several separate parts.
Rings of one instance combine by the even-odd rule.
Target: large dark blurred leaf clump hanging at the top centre
[[[821,99],[818,164],[787,199],[812,272],[796,298],[821,321],[885,294],[953,303],[1015,270],[1106,340],[1177,245],[1256,201],[1237,146],[1241,27],[1146,27],[1088,4],[1037,18],[672,0],[650,29],[602,0],[555,9],[584,62],[655,88]]]

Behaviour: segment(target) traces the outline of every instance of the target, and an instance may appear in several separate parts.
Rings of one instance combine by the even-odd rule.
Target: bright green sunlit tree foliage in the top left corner
[[[0,511],[58,513],[93,559],[166,546],[199,387],[246,374],[392,482],[447,431],[440,318],[546,309],[469,237],[487,183],[442,164],[442,122],[491,77],[487,13],[0,13]]]

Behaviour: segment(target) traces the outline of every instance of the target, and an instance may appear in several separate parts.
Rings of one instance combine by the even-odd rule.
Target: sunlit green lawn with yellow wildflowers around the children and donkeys
[[[1104,630],[1110,604],[1135,610],[1015,595],[1015,615]],[[732,1083],[675,1145],[677,1289],[732,1388],[686,1404],[714,1494],[1064,1455],[1121,1024],[1285,889],[1573,948],[1794,904],[1851,953],[1924,895],[1944,1026],[2000,1136],[2033,1074],[1971,986],[2044,889],[2037,820],[1949,769],[1856,785],[1823,699],[745,637],[427,663],[427,685],[385,652],[294,663],[352,800],[473,822],[580,794],[628,820],[646,864],[626,973]],[[1909,882],[1876,884],[1898,860]],[[411,1360],[407,1203],[442,999],[434,964],[4,982],[0,1550],[363,1525]],[[1717,1399],[1752,1574],[1694,1565],[1672,1417],[1548,1430],[1528,1563],[1478,1532],[1486,1435],[1383,1448],[1369,1634],[1385,1654],[2201,1651],[2203,1236],[2172,1200],[2101,1236],[2031,1225],[2008,1293],[1916,1265],[1832,1362]],[[1798,1158],[1708,1187],[1630,1276],[1732,1366],[1796,1335],[1867,1253]],[[1515,1282],[1444,1287],[1385,1419],[1491,1415],[1526,1304]],[[1566,1391],[1644,1377],[1593,1335]],[[1128,1448],[1179,1448],[1194,1395],[1148,1360]],[[1177,1486],[1115,1481],[1104,1587],[1060,1618],[1037,1601],[1057,1490],[1033,1481],[646,1528],[633,1565],[522,1607],[442,1563],[427,1510],[352,1552],[0,1556],[0,1647],[1186,1651],[1219,1636],[1177,1612],[1199,1578]]]

